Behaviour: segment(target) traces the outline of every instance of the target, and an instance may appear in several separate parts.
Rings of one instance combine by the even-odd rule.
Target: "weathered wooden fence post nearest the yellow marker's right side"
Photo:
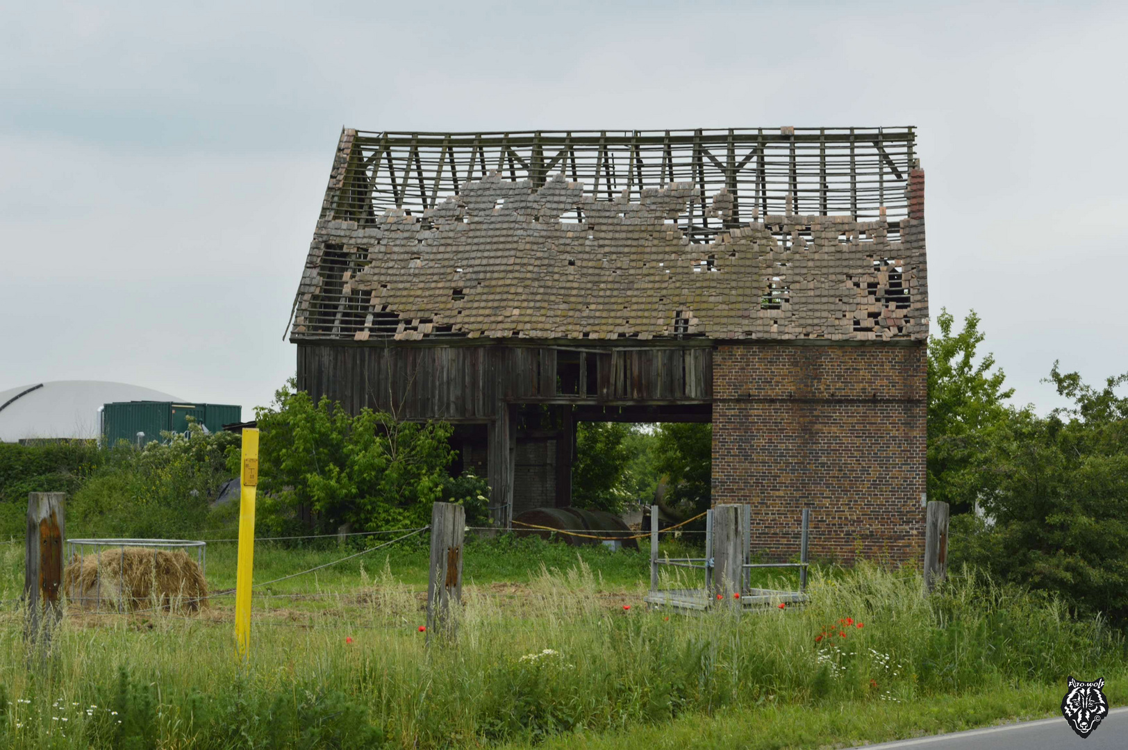
[[[462,539],[466,509],[453,503],[431,506],[431,574],[426,585],[426,641],[438,633],[453,637],[457,617],[451,602],[462,603]]]

